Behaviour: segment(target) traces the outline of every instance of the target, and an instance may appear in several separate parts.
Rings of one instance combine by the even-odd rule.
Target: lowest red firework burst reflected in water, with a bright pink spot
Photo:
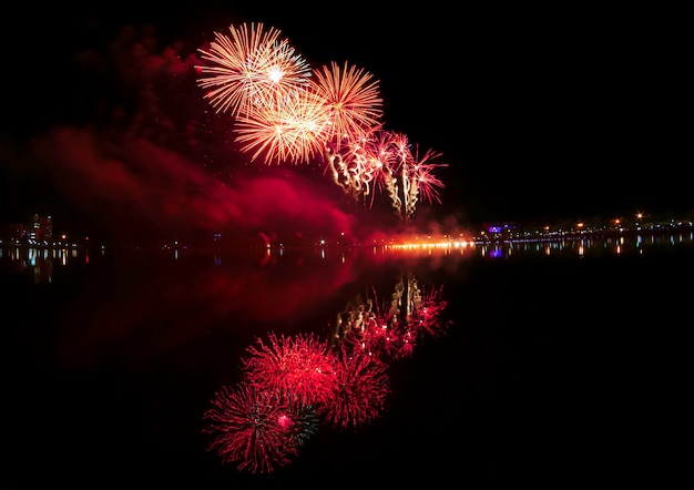
[[[310,407],[245,382],[221,388],[203,418],[213,436],[207,450],[254,473],[287,466],[317,428]]]

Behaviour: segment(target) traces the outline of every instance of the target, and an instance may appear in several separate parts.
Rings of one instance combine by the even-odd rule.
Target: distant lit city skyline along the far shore
[[[60,221],[59,221],[60,223]],[[665,236],[672,233],[691,231],[694,227],[694,215],[672,216],[636,213],[620,216],[593,216],[590,220],[562,218],[554,222],[514,222],[499,221],[477,223],[467,227],[451,227],[422,231],[415,225],[399,232],[381,233],[366,229],[364,235],[338,233],[328,235],[316,233],[313,235],[296,236],[266,235],[264,233],[237,233],[234,228],[220,228],[208,235],[183,235],[175,229],[169,233],[142,236],[129,235],[123,239],[120,236],[103,236],[90,231],[72,233],[64,227],[55,229],[52,215],[33,214],[29,222],[0,223],[0,246],[14,247],[162,247],[177,248],[292,248],[315,247],[347,251],[359,247],[385,247],[402,249],[402,247],[458,247],[484,245],[489,243],[522,243],[547,242],[582,238],[606,238],[624,236]]]

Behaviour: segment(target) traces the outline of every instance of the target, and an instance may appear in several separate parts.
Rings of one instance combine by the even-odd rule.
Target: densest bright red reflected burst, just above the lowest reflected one
[[[246,348],[242,359],[244,379],[300,402],[315,405],[329,399],[336,387],[335,355],[327,341],[314,334],[294,337],[269,335],[268,343],[257,339],[257,347]]]

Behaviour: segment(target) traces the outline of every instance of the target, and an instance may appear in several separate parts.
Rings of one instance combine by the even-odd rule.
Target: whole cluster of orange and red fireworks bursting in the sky
[[[198,84],[217,112],[236,118],[236,139],[251,161],[327,162],[343,191],[368,206],[385,192],[392,208],[409,220],[420,200],[441,203],[443,183],[435,175],[441,154],[421,160],[406,135],[382,129],[379,80],[354,64],[331,62],[310,70],[275,28],[262,23],[215,32],[210,62],[198,67]]]

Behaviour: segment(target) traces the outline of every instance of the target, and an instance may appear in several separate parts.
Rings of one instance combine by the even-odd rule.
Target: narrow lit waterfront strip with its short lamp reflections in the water
[[[358,247],[345,248],[333,244],[314,244],[299,247],[289,246],[252,247],[252,248],[210,248],[177,246],[165,244],[160,246],[112,249],[105,245],[88,246],[43,246],[31,244],[0,246],[0,267],[4,272],[28,274],[35,283],[52,280],[55,268],[67,268],[80,263],[89,264],[94,257],[126,255],[129,257],[154,256],[157,259],[187,261],[193,257],[211,257],[215,265],[222,263],[266,265],[282,261],[287,254],[313,256],[318,261],[326,257],[370,256],[376,262],[388,258],[430,257],[433,261],[457,262],[458,259],[476,258],[539,258],[545,257],[595,257],[612,255],[632,255],[644,253],[662,253],[675,249],[680,245],[694,242],[694,229],[690,224],[662,231],[629,231],[625,233],[551,233],[541,236],[532,234],[487,239],[472,237],[456,239],[450,235],[415,236],[411,239],[372,241]],[[1,245],[1,244],[0,244]]]

